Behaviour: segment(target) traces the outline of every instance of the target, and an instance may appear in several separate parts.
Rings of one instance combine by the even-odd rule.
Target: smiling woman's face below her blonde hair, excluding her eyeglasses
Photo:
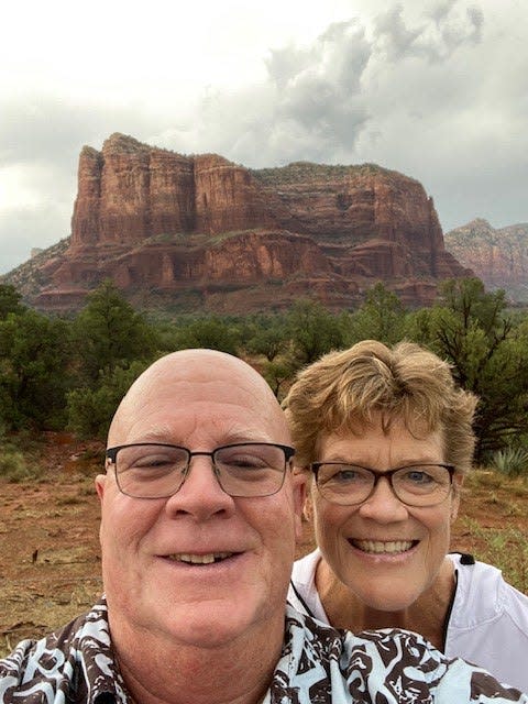
[[[318,461],[378,471],[444,462],[439,431],[411,435],[399,419],[384,430],[381,416],[374,417],[372,426],[353,430],[323,435]],[[365,605],[400,610],[432,584],[440,570],[449,550],[457,496],[451,492],[436,506],[406,506],[389,483],[381,481],[363,504],[340,506],[324,499],[314,483],[317,542],[339,580]]]

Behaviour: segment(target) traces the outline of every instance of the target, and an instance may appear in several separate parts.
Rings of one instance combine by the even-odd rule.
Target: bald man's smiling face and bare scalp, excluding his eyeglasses
[[[178,355],[157,363],[157,373],[129,394],[109,444],[166,442],[191,451],[288,444],[282,411],[260,377],[224,355]],[[112,632],[213,647],[270,622],[282,628],[302,480],[288,470],[277,494],[233,498],[220,488],[210,458],[195,457],[169,498],[122,494],[112,468],[96,484]]]

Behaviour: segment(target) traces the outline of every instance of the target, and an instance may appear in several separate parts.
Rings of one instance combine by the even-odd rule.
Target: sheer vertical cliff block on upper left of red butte
[[[215,154],[186,157],[113,134],[101,152],[82,148],[78,174],[74,251],[273,223],[250,172]]]

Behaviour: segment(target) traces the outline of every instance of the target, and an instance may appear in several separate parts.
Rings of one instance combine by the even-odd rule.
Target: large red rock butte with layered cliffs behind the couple
[[[308,295],[352,306],[380,279],[428,304],[438,279],[470,274],[446,251],[432,199],[402,174],[251,170],[122,134],[82,148],[69,246],[37,268],[37,290],[21,290],[43,308],[72,307],[111,277],[143,300],[193,293],[194,306],[240,312]]]

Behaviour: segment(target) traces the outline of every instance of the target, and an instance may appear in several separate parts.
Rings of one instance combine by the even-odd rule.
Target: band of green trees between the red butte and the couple
[[[248,359],[280,398],[301,366],[363,339],[413,340],[450,361],[457,382],[480,397],[477,463],[495,458],[504,473],[528,473],[528,314],[508,312],[504,292],[486,293],[479,279],[448,280],[435,306],[413,311],[377,284],[354,311],[298,300],[280,314],[170,319],[138,312],[111,282],[68,320],[0,286],[0,428],[103,437],[135,376],[184,348]]]

